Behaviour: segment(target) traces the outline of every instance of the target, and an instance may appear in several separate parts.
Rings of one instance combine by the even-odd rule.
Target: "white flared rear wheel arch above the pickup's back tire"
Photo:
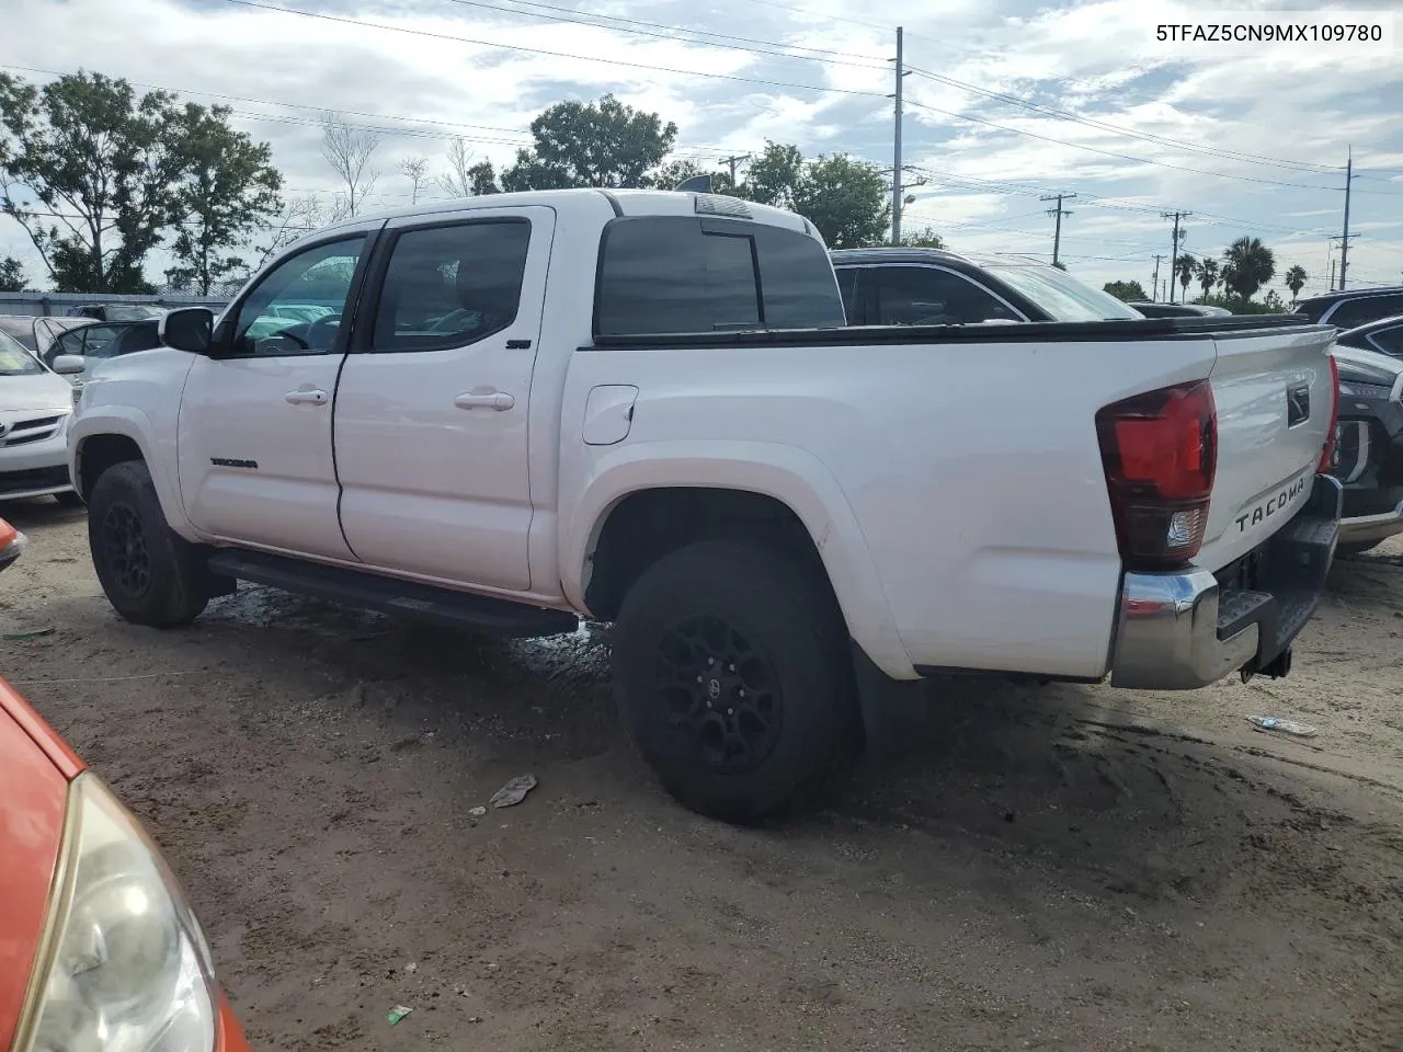
[[[728,526],[765,520],[767,537],[776,536],[773,530],[797,527],[804,534],[798,543],[826,575],[853,641],[888,676],[916,676],[847,498],[811,454],[762,442],[716,443],[704,450],[690,442],[630,443],[610,450],[588,473],[588,485],[572,501],[561,530],[561,585],[577,609],[612,613],[629,582],[615,579],[600,586],[595,575],[600,569],[617,572],[617,567],[600,565],[612,555],[610,532],[647,502],[679,515],[664,526],[665,536],[648,534],[651,547],[640,553],[626,578],[629,572],[636,578],[680,544],[737,536],[699,530],[699,520],[707,518]]]

